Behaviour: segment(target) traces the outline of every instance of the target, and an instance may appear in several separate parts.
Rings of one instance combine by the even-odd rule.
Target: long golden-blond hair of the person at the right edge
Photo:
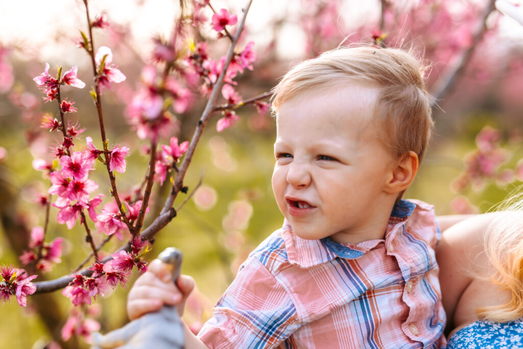
[[[505,303],[477,309],[482,319],[508,322],[523,317],[523,186],[496,207],[485,232],[485,252],[494,267],[491,282],[510,294]]]

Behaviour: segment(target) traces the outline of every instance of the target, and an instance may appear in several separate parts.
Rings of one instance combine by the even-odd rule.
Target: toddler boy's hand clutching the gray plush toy
[[[185,301],[194,287],[194,279],[187,275],[180,275],[175,285],[172,271],[156,259],[149,264],[147,272],[136,280],[129,291],[127,297],[129,319],[134,320],[145,313],[156,311],[164,304],[177,306],[181,317]]]

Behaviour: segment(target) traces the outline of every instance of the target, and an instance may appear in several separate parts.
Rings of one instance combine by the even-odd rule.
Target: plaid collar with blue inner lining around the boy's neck
[[[395,230],[394,228],[397,225],[411,216],[416,206],[415,202],[407,200],[400,200],[394,205],[387,237],[389,237],[391,229]],[[363,241],[358,244],[337,243],[329,238],[305,240],[294,234],[287,220],[283,222],[282,238],[285,241],[289,262],[302,268],[323,264],[332,261],[336,257],[355,259],[384,242],[381,239]]]

